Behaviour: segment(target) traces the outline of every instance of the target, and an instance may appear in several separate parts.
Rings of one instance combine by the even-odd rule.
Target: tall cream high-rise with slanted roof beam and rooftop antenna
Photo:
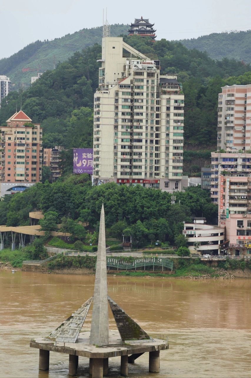
[[[93,182],[181,190],[184,95],[121,37],[102,40],[94,95]]]

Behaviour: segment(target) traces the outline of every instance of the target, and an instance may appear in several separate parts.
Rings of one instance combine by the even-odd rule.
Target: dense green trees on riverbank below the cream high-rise
[[[58,222],[64,225],[61,225],[63,232],[74,231],[72,243],[76,239],[87,242],[96,235],[96,240],[92,240],[95,244],[102,203],[106,235],[118,239],[123,233],[132,235],[133,248],[155,245],[157,240],[163,243],[161,246],[175,245],[177,236],[182,233],[183,222],[201,216],[202,206],[208,223],[213,223],[217,217],[217,207],[211,203],[210,192],[200,187],[188,187],[184,192],[177,192],[176,203],[172,205],[170,193],[139,185],[109,183],[92,186],[89,176],[83,174],[66,175],[53,184],[46,181],[14,196],[5,196],[0,201],[0,223],[7,226],[28,225],[29,212],[39,209],[43,211],[45,220],[55,215],[55,222],[41,222],[43,229],[49,231],[48,225],[51,225],[52,231]],[[85,231],[78,222],[88,222],[89,229]],[[66,248],[60,243],[54,245]]]

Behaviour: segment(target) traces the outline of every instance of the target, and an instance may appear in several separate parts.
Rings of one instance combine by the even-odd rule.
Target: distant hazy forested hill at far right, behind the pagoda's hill
[[[215,60],[227,57],[251,63],[251,30],[212,33],[199,38],[183,39],[180,42],[189,49],[207,51]]]

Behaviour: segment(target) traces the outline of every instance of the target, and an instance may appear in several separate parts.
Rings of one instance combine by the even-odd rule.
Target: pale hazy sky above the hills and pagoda
[[[50,40],[101,26],[103,7],[107,7],[110,24],[127,24],[141,16],[149,18],[155,23],[157,39],[251,29],[250,0],[0,0],[0,58],[38,39]]]

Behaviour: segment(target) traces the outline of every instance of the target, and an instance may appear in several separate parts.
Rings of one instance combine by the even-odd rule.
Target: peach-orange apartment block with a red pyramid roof
[[[41,180],[42,129],[24,112],[15,113],[0,127],[0,180],[37,182]],[[31,125],[29,125],[31,124]]]

